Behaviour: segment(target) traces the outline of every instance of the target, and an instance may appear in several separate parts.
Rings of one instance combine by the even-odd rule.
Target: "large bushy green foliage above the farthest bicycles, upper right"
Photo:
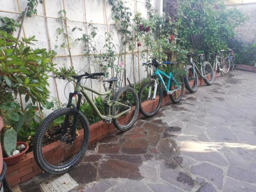
[[[181,0],[179,5],[178,44],[186,50],[192,50],[191,36],[197,34],[202,34],[199,50],[226,49],[234,29],[246,20],[239,10],[228,9],[223,0]]]

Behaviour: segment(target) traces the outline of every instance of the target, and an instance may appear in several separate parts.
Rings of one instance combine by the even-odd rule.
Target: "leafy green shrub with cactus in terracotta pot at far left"
[[[5,122],[1,142],[7,164],[19,161],[28,150],[38,125],[36,119],[40,120],[36,111],[53,105],[47,99],[48,74],[57,71],[52,62],[55,53],[32,49],[33,41],[34,37],[17,40],[0,31],[0,116]],[[17,142],[17,136],[25,142]]]

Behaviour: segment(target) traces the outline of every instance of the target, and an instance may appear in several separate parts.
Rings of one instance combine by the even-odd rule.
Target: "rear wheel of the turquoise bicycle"
[[[177,83],[174,82],[174,80],[170,83],[169,90],[173,92],[172,94],[170,94],[170,100],[172,100],[173,103],[178,103],[183,96],[185,84],[184,78],[180,74],[175,74],[174,79]]]

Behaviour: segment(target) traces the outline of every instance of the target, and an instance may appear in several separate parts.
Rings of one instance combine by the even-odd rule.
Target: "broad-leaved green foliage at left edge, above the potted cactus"
[[[55,71],[52,58],[54,52],[46,49],[32,49],[34,36],[17,41],[16,38],[0,32],[0,103],[8,93],[25,95],[25,101],[45,103],[49,97],[47,75]],[[15,45],[17,42],[17,47]]]

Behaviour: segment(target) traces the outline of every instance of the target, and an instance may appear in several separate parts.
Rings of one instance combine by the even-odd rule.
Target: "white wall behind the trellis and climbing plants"
[[[123,1],[126,7],[131,9],[133,17],[137,12],[141,12],[144,18],[147,18],[147,9],[146,9],[146,0],[125,0]],[[153,7],[157,10],[158,13],[162,13],[163,7],[162,0],[152,0]],[[27,0],[0,0],[0,16],[8,16],[14,19],[17,19],[19,14],[25,10],[27,6]],[[74,63],[74,68],[81,73],[90,71],[98,72],[98,67],[93,67],[92,57],[84,56],[84,44],[81,41],[74,41],[74,39],[81,37],[79,31],[72,32],[74,27],[83,28],[86,31],[86,28],[89,24],[98,28],[98,34],[96,36],[97,49],[98,52],[104,53],[105,49],[103,48],[105,32],[111,32],[114,38],[114,44],[120,46],[119,39],[121,34],[119,34],[114,26],[114,22],[111,18],[111,5],[108,0],[44,0],[44,5],[38,4],[37,6],[37,15],[33,17],[28,17],[25,20],[24,30],[22,31],[22,36],[32,36],[35,35],[37,42],[35,42],[38,48],[47,48],[54,49],[54,45],[59,47],[56,49],[57,56],[54,58],[54,62],[58,66],[65,65],[67,67],[71,66],[71,58]],[[57,19],[59,17],[58,12],[65,9],[68,17],[68,34],[72,38],[71,40],[71,55],[69,57],[69,52],[67,48],[60,48],[60,45],[64,41],[63,35],[59,36],[58,41],[56,42],[57,28],[61,28],[61,22]],[[15,36],[17,33],[14,34]],[[145,47],[140,47],[140,51],[144,50]],[[116,50],[118,53],[119,50]],[[126,49],[126,77],[130,78],[130,81],[133,83],[133,75],[135,74],[136,81],[139,80],[138,74],[140,74],[140,80],[146,77],[144,69],[142,66],[138,66],[138,56],[140,58],[140,64],[143,62],[141,56],[137,53],[134,54],[134,68],[132,66],[132,53]],[[116,63],[118,65],[118,63]],[[80,74],[81,74],[80,73]],[[64,94],[64,88],[67,81],[57,79],[57,88],[59,93],[60,101],[63,103],[67,102],[67,99]],[[97,80],[93,80],[92,84],[88,80],[86,84],[89,87],[94,89],[102,90],[102,85]],[[51,96],[57,97],[55,82],[54,79],[50,79],[50,88]],[[69,92],[73,90],[73,84],[69,84],[65,91],[68,96]]]

